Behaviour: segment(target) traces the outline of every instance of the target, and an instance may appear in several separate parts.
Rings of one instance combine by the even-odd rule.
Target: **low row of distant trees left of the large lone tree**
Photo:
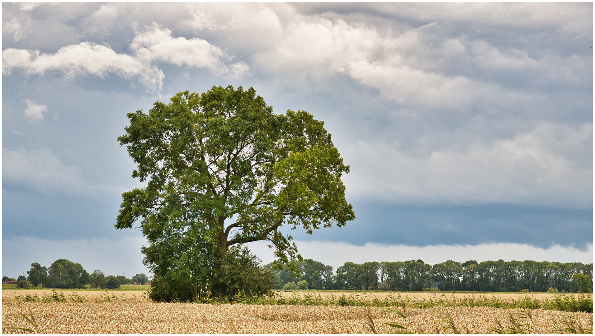
[[[34,262],[31,269],[27,271],[28,277],[19,275],[17,279],[3,277],[2,283],[6,281],[17,281],[17,287],[38,287],[42,285],[45,288],[85,288],[90,285],[92,288],[120,288],[120,285],[134,284],[140,282],[146,284],[149,277],[145,274],[136,274],[132,278],[126,278],[124,275],[108,275],[99,269],[95,269],[89,274],[80,263],[74,263],[67,259],[58,259],[52,263],[49,268]]]

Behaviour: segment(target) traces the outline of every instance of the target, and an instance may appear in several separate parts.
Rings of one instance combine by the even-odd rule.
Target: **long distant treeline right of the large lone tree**
[[[437,287],[441,291],[577,292],[580,284],[581,291],[593,290],[593,263],[533,260],[468,260],[461,263],[447,260],[430,265],[419,259],[361,264],[346,262],[337,268],[336,274],[333,274],[332,266],[312,259],[294,263],[300,270],[300,277],[292,277],[287,265],[282,272],[273,271],[272,263],[265,265],[271,270],[277,289],[292,288],[293,284],[305,280],[309,289],[318,290],[422,291]]]

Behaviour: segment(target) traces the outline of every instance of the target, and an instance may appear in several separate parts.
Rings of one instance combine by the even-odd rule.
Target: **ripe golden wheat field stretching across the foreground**
[[[26,292],[19,291],[21,296]],[[39,291],[36,291],[39,295]],[[452,334],[453,329],[444,328],[450,322],[443,318],[450,314],[458,332],[471,334],[494,333],[490,326],[512,326],[509,312],[517,310],[492,307],[433,307],[430,309],[406,308],[406,320],[398,313],[377,307],[354,306],[305,306],[249,305],[249,304],[198,304],[198,303],[152,303],[142,297],[142,292],[110,292],[117,297],[136,296],[137,302],[103,302],[94,300],[103,291],[80,291],[89,302],[21,302],[12,300],[14,291],[3,291],[2,332],[27,333],[7,327],[31,328],[18,314],[35,316],[37,332],[44,334],[371,334],[370,319],[378,333],[393,333],[397,329],[382,324],[399,324],[416,333]],[[64,294],[70,294],[65,291]],[[346,293],[347,294],[347,293]],[[382,293],[380,293],[382,294]],[[412,293],[408,293],[411,295]],[[417,297],[418,294],[416,293]],[[401,307],[395,307],[403,312]],[[533,318],[529,321],[534,333],[552,333],[555,326],[563,325],[568,312],[556,310],[528,310]],[[586,328],[593,328],[593,313],[574,313],[575,321]]]

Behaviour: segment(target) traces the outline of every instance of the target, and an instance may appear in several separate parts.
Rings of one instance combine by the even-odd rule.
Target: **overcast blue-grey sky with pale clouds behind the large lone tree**
[[[116,138],[177,92],[254,87],[350,165],[304,258],[593,262],[593,4],[2,3],[2,275],[134,274]],[[264,262],[272,252],[252,244]]]

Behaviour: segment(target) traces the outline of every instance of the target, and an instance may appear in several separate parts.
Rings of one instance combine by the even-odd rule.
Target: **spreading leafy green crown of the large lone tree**
[[[208,265],[221,269],[231,246],[258,240],[283,265],[301,257],[281,225],[312,234],[355,219],[341,181],[349,166],[306,111],[277,115],[253,88],[228,86],[180,92],[127,117],[118,142],[137,164],[132,176],[148,184],[123,193],[115,227],[141,220],[156,278],[204,287],[217,272]]]

